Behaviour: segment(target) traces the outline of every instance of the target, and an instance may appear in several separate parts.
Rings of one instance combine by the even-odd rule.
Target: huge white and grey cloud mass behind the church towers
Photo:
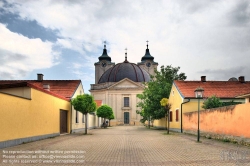
[[[149,40],[155,61],[180,66],[188,79],[199,79],[198,71],[249,68],[249,0],[8,2],[15,4],[9,11],[21,18],[59,30],[57,44],[80,52],[92,69],[98,59],[90,53],[99,49],[101,55],[104,40],[116,63],[124,60],[126,47],[128,60],[139,62]]]

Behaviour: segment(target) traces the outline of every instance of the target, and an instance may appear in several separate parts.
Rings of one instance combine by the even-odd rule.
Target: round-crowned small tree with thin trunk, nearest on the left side
[[[89,94],[78,95],[71,101],[76,111],[81,112],[85,115],[85,134],[87,134],[87,114],[95,112],[96,102],[94,101],[93,96]]]

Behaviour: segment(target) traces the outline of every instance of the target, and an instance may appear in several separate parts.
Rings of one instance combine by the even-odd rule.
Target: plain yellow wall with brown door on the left
[[[68,111],[70,102],[31,89],[31,100],[0,93],[0,141],[60,133],[60,109]]]

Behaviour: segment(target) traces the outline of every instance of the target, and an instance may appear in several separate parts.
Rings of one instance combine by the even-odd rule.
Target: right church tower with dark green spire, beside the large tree
[[[150,75],[154,75],[154,70],[157,69],[158,63],[154,62],[154,57],[151,56],[148,49],[148,41],[147,41],[147,49],[145,55],[141,58],[141,62],[137,63],[140,68],[146,70]]]

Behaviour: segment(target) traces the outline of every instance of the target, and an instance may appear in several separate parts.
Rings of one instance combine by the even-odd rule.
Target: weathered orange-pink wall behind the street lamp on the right
[[[184,113],[184,130],[197,131],[198,112]],[[200,131],[250,138],[250,103],[200,111]]]

